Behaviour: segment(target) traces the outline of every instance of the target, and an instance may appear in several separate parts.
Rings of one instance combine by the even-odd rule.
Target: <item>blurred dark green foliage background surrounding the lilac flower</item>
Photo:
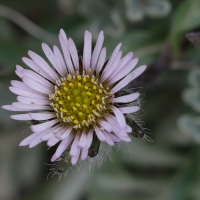
[[[200,0],[0,0],[0,106],[16,101],[15,65],[28,50],[44,57],[41,42],[58,44],[60,28],[80,54],[84,31],[95,43],[104,30],[108,56],[122,42],[123,55],[148,65],[134,87],[154,142],[133,138],[100,169],[47,180],[55,148],[19,147],[29,124],[0,109],[0,199],[199,200]]]

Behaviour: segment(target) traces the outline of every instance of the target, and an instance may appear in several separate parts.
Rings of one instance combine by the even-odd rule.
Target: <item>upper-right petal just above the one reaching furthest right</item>
[[[138,63],[138,58],[133,59],[126,66],[124,66],[123,69],[121,69],[113,78],[111,78],[110,79],[111,81],[109,83],[113,84],[122,79],[124,76],[129,74],[134,69],[137,63]]]

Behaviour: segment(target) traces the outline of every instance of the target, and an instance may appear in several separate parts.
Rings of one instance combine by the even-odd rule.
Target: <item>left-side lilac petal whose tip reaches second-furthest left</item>
[[[30,98],[35,98],[35,99],[46,99],[45,95],[43,94],[41,95],[35,94],[33,92],[29,92],[27,90],[20,89],[20,88],[9,87],[9,90],[14,94],[24,96],[24,97],[30,97]]]

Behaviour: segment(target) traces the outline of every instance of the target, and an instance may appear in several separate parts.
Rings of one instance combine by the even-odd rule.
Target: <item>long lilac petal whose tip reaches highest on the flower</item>
[[[67,36],[66,36],[63,29],[60,30],[59,41],[60,41],[60,44],[61,44],[61,47],[62,47],[62,50],[63,50],[65,62],[67,64],[69,73],[74,74],[75,71],[74,71],[74,67],[72,65],[71,58],[70,58]]]

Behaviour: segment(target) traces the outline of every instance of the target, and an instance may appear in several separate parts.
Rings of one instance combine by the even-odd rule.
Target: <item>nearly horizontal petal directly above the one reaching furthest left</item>
[[[26,109],[26,110],[29,110],[29,111],[32,111],[32,110],[50,110],[51,109],[50,106],[24,104],[24,103],[21,103],[21,102],[14,102],[14,103],[12,103],[12,105],[15,108]]]

